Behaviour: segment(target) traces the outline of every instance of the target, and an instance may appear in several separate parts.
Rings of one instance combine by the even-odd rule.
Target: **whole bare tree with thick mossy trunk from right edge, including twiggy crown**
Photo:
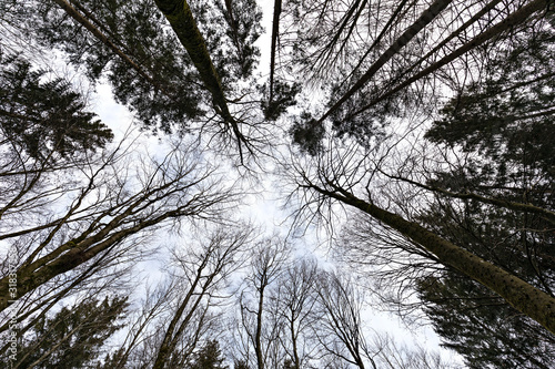
[[[506,271],[502,267],[472,254],[456,244],[441,237],[433,230],[403,216],[402,208],[391,208],[391,197],[380,197],[380,181],[376,167],[382,167],[394,152],[393,146],[369,152],[350,151],[336,145],[322,153],[309,166],[297,165],[294,180],[304,199],[304,209],[325,217],[323,204],[330,202],[346,205],[374,218],[385,227],[405,237],[432,259],[453,267],[470,278],[502,296],[516,310],[529,316],[549,331],[555,330],[555,304],[552,296]],[[351,146],[349,148],[353,148]],[[344,155],[344,156],[342,156]],[[374,156],[375,155],[375,156]],[[387,156],[390,155],[390,156]],[[387,182],[383,182],[386,185]],[[375,186],[375,187],[373,187]],[[376,189],[377,188],[377,189]],[[386,191],[382,191],[386,194]],[[383,202],[381,204],[380,202]],[[387,205],[387,203],[390,205]],[[311,205],[312,204],[312,205]],[[414,202],[411,202],[414,205]],[[406,213],[405,213],[406,214]]]

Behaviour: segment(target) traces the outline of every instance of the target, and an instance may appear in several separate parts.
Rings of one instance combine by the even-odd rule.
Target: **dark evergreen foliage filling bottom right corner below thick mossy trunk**
[[[553,368],[555,337],[487,288],[450,270],[418,289],[444,346],[470,368]]]

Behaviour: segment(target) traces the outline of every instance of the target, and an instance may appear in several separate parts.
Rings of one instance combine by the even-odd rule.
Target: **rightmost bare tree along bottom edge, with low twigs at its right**
[[[312,329],[326,368],[454,368],[437,352],[418,345],[408,348],[369,327],[362,318],[367,298],[349,277],[320,271],[316,291]]]

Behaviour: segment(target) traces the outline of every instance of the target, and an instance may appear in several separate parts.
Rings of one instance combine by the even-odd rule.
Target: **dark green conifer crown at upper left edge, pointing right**
[[[43,160],[52,152],[69,156],[104,147],[113,139],[70,82],[44,82],[47,72],[17,57],[0,54],[0,68],[1,136],[18,150]]]

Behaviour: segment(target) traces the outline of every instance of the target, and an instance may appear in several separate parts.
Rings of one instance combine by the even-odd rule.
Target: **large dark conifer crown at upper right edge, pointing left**
[[[490,157],[500,184],[542,171],[555,177],[555,29],[514,40],[442,110],[426,137]]]

